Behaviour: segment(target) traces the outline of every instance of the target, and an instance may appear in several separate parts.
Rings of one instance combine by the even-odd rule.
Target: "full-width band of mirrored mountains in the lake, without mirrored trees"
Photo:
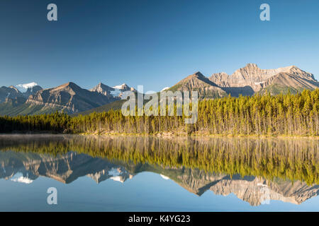
[[[69,152],[64,155],[38,155],[34,153],[0,153],[0,178],[29,183],[40,176],[59,182],[71,183],[79,177],[88,176],[97,183],[106,179],[125,182],[139,172],[155,172],[164,179],[172,179],[188,191],[201,196],[211,190],[214,194],[226,196],[235,194],[252,206],[267,200],[279,200],[300,204],[319,194],[319,186],[308,186],[304,182],[276,179],[269,181],[261,177],[232,178],[225,174],[206,173],[184,167],[158,167],[148,164],[133,165],[128,162],[113,162],[85,154]],[[17,174],[21,176],[14,178]]]

